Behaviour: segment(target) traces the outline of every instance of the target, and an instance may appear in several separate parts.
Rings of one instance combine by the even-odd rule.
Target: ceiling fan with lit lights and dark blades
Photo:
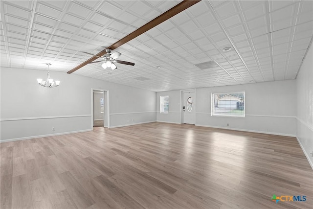
[[[88,53],[86,51],[83,51],[83,52],[86,53],[86,54],[90,54],[90,53]],[[97,55],[94,55],[94,54],[90,54],[92,56],[99,57],[102,60],[89,62],[88,64],[103,62],[103,64],[101,65],[102,68],[104,68],[104,69],[111,68],[112,70],[117,69],[117,67],[116,67],[116,65],[114,63],[124,64],[124,65],[132,65],[132,66],[135,65],[134,63],[131,63],[131,62],[126,62],[126,61],[122,61],[122,60],[116,60],[119,56],[121,56],[121,53],[119,53],[118,51],[115,51],[115,52],[112,53],[112,49],[106,48],[106,52],[107,53],[102,55],[101,57],[97,56]]]

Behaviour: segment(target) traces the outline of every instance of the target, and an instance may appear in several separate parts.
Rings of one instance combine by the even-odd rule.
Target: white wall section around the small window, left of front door
[[[160,96],[168,96],[168,113],[160,113]],[[180,123],[180,91],[156,93],[156,120],[158,122]]]

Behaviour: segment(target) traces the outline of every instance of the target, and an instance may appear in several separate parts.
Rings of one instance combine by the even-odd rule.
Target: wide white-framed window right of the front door
[[[245,116],[245,92],[212,93],[211,116]]]

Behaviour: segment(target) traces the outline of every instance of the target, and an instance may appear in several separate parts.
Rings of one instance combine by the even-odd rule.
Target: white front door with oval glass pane
[[[196,122],[196,93],[183,93],[182,106],[184,123],[195,124]]]

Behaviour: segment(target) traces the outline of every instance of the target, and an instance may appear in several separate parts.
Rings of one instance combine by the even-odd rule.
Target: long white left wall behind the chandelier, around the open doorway
[[[1,141],[92,130],[91,89],[110,90],[111,127],[156,121],[156,93],[66,72],[61,84],[44,88],[46,71],[0,69]],[[52,131],[52,127],[55,131]]]

